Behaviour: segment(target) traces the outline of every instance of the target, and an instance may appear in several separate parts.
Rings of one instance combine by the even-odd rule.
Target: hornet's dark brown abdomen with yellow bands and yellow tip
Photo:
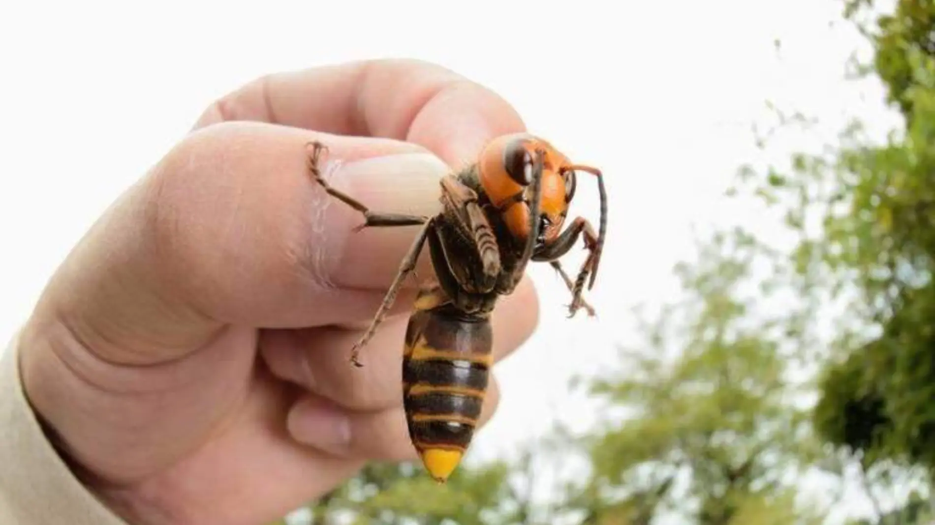
[[[403,355],[410,439],[438,481],[452,474],[470,444],[493,364],[487,316],[439,305],[444,299],[438,288],[420,292]]]

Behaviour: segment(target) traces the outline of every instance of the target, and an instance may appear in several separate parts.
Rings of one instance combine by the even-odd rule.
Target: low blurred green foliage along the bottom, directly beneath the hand
[[[571,501],[573,483],[561,473],[569,462],[586,461],[583,453],[556,425],[515,459],[468,461],[444,485],[412,464],[372,464],[310,504],[311,525],[551,525],[574,519],[585,512],[585,502]],[[535,492],[551,497],[536,498]]]

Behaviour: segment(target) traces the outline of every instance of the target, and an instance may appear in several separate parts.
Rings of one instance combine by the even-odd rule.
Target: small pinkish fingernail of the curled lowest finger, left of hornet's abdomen
[[[331,454],[342,454],[351,446],[351,419],[337,407],[318,398],[296,403],[286,419],[295,441]]]

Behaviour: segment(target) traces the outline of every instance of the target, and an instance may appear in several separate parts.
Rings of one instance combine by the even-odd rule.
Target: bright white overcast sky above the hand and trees
[[[676,296],[670,270],[691,257],[693,225],[770,229],[755,206],[721,198],[759,154],[751,125],[769,120],[767,100],[817,117],[828,137],[849,115],[880,133],[893,122],[879,86],[843,77],[861,42],[837,0],[259,6],[3,7],[0,337],[28,317],[104,208],[216,97],[280,70],[424,59],[500,93],[531,132],[606,175],[608,242],[588,295],[599,318],[566,319],[564,285],[547,265],[532,270],[539,331],[498,366],[502,402],[475,445],[478,457],[509,454],[554,417],[593,418],[564,395],[568,378],[613,362],[614,345],[633,336],[632,305]],[[572,212],[596,222],[593,182],[577,195]]]

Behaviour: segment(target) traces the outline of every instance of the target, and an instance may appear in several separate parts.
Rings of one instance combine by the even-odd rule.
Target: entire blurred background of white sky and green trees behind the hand
[[[930,0],[2,12],[4,338],[203,108],[269,72],[442,64],[606,174],[598,317],[565,319],[564,285],[531,270],[539,332],[498,366],[503,401],[453,480],[372,465],[289,523],[935,519]],[[583,181],[573,213],[597,220]]]

